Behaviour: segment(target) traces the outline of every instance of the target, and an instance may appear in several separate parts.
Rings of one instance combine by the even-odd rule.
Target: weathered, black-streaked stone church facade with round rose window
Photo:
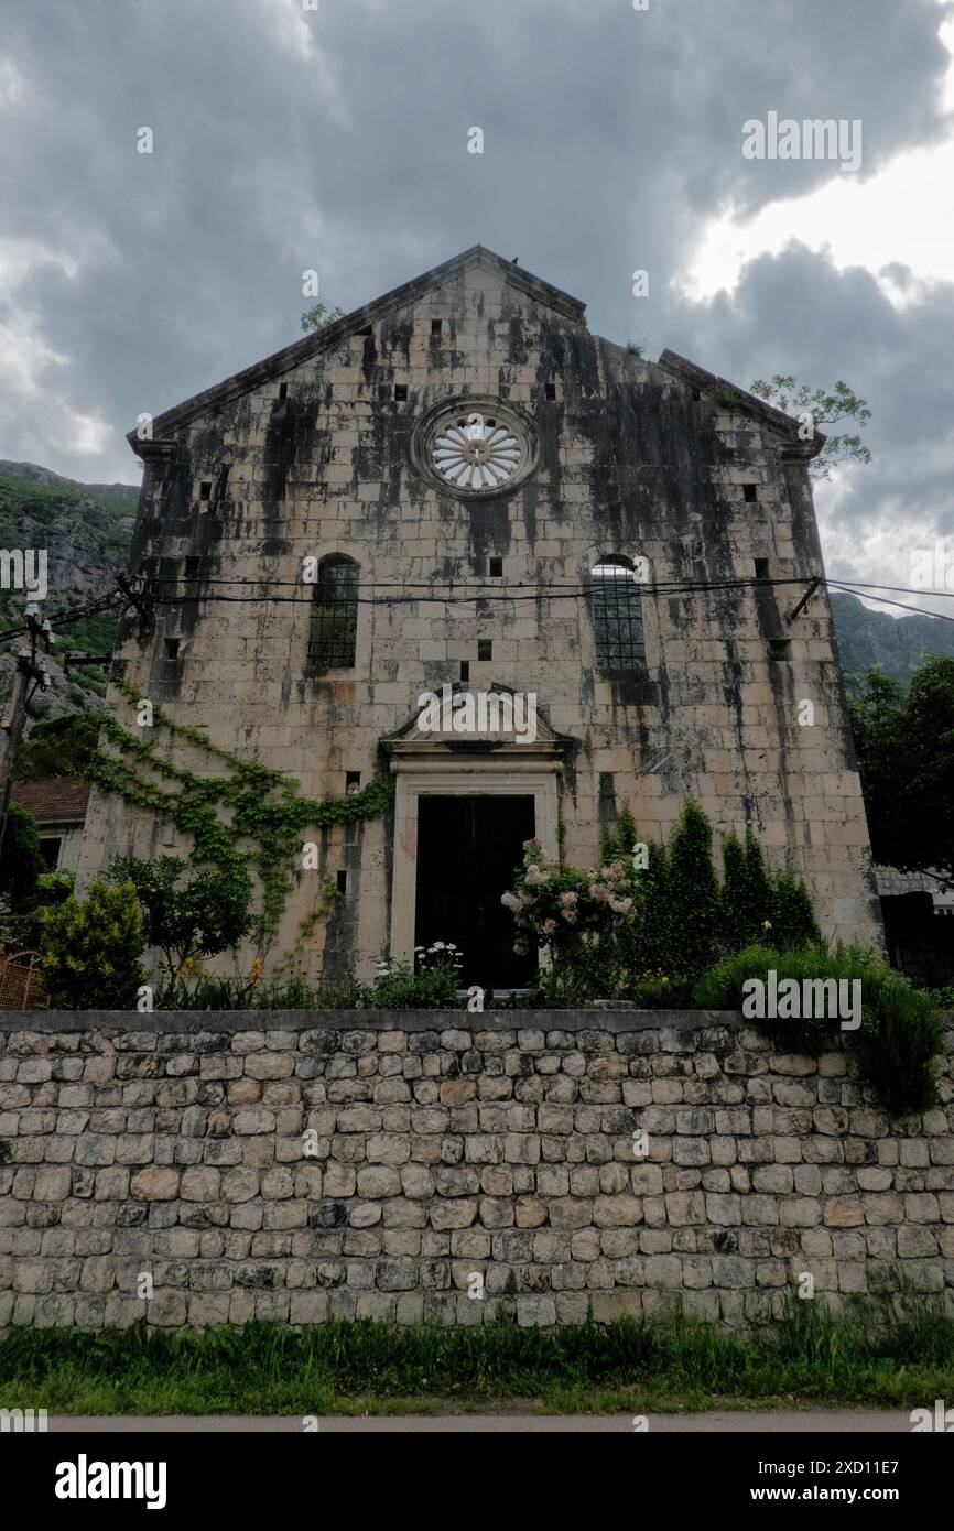
[[[623,805],[662,837],[686,796],[828,934],[880,942],[824,586],[793,615],[821,438],[583,312],[475,246],[130,435],[130,574],[165,596],[116,674],[308,796],[394,778],[383,816],[315,830],[266,971],[368,978],[453,939],[469,981],[516,983],[522,841],[588,867]],[[81,880],[188,848],[96,790]]]

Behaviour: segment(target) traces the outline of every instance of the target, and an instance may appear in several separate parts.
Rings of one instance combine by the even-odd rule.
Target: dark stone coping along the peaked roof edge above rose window
[[[338,346],[341,340],[346,340],[357,329],[364,329],[368,325],[380,320],[390,309],[413,303],[430,288],[439,286],[443,282],[459,276],[459,273],[467,271],[470,266],[484,266],[488,271],[496,271],[510,286],[525,292],[528,297],[534,299],[534,302],[556,309],[564,315],[564,318],[570,318],[580,325],[583,323],[586,305],[580,302],[580,299],[571,297],[560,288],[551,286],[551,283],[544,282],[542,277],[534,277],[530,271],[524,271],[511,260],[504,260],[502,256],[495,254],[493,250],[487,250],[484,245],[472,245],[470,250],[464,250],[459,256],[453,256],[450,260],[444,260],[443,265],[433,266],[420,277],[413,277],[412,282],[404,282],[401,286],[392,288],[390,292],[384,292],[383,297],[375,299],[372,303],[366,303],[363,308],[355,308],[351,314],[345,314],[332,325],[326,325],[322,331],[306,335],[303,340],[296,340],[291,346],[283,346],[282,351],[273,352],[273,355],[265,357],[263,361],[256,361],[254,366],[245,367],[242,372],[236,372],[233,377],[225,378],[224,383],[216,383],[213,387],[204,389],[201,393],[193,393],[191,398],[187,398],[181,404],[175,404],[173,409],[167,409],[164,413],[156,415],[153,418],[153,441],[161,441],[164,436],[168,436],[179,426],[187,424],[196,415],[204,415],[210,409],[217,409],[221,404],[225,404],[233,398],[239,398],[250,389],[259,387],[262,383],[268,383],[271,378],[280,377],[283,372],[291,372],[303,361],[311,360],[311,357],[320,355],[323,351],[332,351],[334,346]],[[150,450],[152,442],[141,441],[135,430],[130,430],[126,439],[138,456],[142,456]]]

